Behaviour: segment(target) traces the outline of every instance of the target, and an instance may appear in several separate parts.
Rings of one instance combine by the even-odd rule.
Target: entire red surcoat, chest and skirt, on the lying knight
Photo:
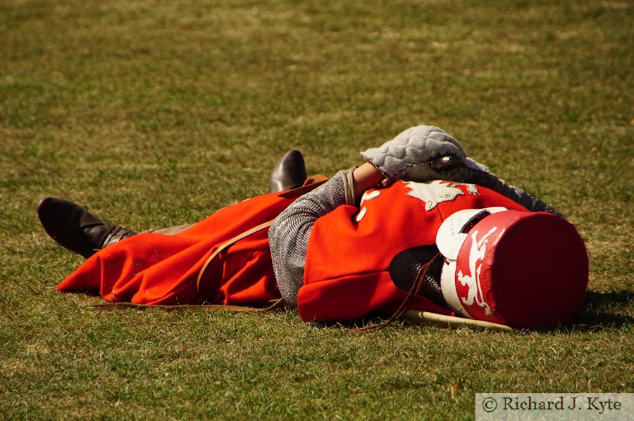
[[[271,193],[220,209],[176,235],[142,233],[95,253],[58,285],[60,291],[99,290],[111,302],[247,305],[280,297],[268,229],[221,252],[223,242],[275,218],[292,197]],[[449,182],[394,183],[368,190],[359,208],[342,205],[317,219],[306,255],[297,306],[302,320],[354,320],[398,306],[406,292],[390,278],[403,250],[435,244],[438,226],[459,209],[504,206],[526,210],[480,186]],[[450,313],[416,297],[410,308]]]

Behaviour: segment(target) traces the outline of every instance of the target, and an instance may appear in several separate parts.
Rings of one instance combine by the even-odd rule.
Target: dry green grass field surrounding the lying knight
[[[0,2],[0,418],[469,420],[478,392],[633,392],[631,1]],[[294,311],[100,312],[46,195],[144,230],[434,124],[576,224],[576,322],[360,335]]]

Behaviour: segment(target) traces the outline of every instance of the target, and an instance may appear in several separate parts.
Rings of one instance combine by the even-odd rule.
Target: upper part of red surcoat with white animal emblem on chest
[[[355,320],[395,309],[406,292],[390,278],[392,259],[412,247],[435,245],[438,227],[452,213],[492,206],[526,210],[488,188],[447,181],[399,181],[368,190],[359,209],[337,207],[313,226],[299,315],[305,321]],[[409,308],[450,313],[423,297]]]

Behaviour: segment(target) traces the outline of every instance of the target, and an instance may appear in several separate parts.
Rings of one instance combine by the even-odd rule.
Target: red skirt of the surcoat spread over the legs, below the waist
[[[87,259],[57,287],[59,291],[99,290],[111,302],[135,304],[253,304],[280,297],[273,276],[268,228],[220,252],[219,245],[269,221],[294,199],[261,195],[220,209],[176,235],[142,233],[109,245]]]

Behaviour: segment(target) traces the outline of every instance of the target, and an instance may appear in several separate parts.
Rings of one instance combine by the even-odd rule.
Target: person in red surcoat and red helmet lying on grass
[[[282,298],[305,321],[433,311],[518,328],[574,316],[588,255],[557,211],[466,157],[437,127],[407,129],[366,163],[306,179],[291,151],[271,193],[192,226],[135,233],[47,197],[39,219],[87,260],[60,291],[110,302],[244,306]]]

